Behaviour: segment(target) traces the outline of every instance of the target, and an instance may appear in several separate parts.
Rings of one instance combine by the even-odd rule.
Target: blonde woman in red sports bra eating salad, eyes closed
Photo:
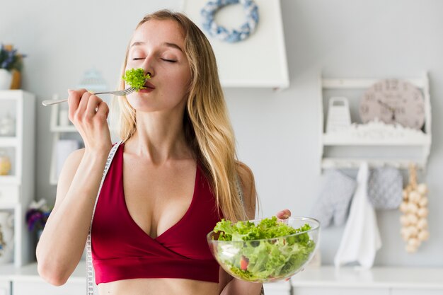
[[[158,11],[134,31],[122,74],[132,68],[151,79],[146,89],[115,98],[122,141],[101,189],[113,147],[108,106],[84,89],[69,91],[69,120],[85,148],[62,169],[37,248],[40,276],[67,281],[93,216],[100,294],[260,294],[261,284],[226,274],[205,240],[222,217],[253,219],[256,203],[253,174],[236,161],[209,42],[182,14]]]

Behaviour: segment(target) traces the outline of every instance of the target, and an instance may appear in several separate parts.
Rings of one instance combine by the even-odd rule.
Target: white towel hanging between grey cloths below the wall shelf
[[[335,267],[359,262],[363,268],[371,268],[376,251],[381,248],[375,211],[367,197],[368,179],[368,164],[362,163],[358,170],[357,189],[352,199],[343,238],[335,254]]]

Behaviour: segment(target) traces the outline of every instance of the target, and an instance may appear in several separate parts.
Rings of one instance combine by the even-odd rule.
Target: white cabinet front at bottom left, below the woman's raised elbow
[[[47,282],[13,282],[13,295],[79,295],[86,294],[86,283],[67,282],[54,287]]]

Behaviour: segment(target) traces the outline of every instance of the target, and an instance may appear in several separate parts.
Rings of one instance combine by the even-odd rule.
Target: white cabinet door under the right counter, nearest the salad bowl
[[[390,295],[386,288],[294,287],[293,295]],[[422,294],[420,294],[422,295]]]

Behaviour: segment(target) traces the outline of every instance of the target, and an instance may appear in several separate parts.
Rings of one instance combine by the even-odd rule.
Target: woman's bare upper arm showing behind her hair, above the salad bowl
[[[241,188],[243,189],[246,214],[248,214],[248,218],[253,219],[255,216],[255,204],[257,202],[253,172],[245,163],[238,161],[237,173],[240,178]]]

